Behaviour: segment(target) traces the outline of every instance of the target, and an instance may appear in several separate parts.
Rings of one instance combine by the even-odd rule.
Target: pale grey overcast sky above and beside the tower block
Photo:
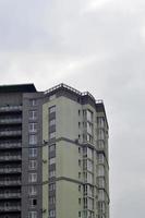
[[[111,218],[145,217],[144,58],[144,0],[0,0],[0,84],[104,99]]]

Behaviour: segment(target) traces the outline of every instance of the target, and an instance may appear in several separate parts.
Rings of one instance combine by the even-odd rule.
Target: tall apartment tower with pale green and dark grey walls
[[[0,86],[0,218],[109,218],[108,171],[101,100]]]

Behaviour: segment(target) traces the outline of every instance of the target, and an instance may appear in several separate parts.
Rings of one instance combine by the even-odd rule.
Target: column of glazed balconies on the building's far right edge
[[[97,162],[98,217],[108,218],[108,128],[102,114],[97,118]]]

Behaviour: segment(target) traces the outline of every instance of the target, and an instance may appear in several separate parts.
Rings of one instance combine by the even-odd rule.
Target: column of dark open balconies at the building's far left
[[[22,106],[0,107],[0,217],[21,217]]]

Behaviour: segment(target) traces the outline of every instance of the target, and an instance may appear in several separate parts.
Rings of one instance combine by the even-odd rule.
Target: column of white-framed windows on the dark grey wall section
[[[28,119],[28,144],[31,148],[28,148],[28,195],[29,195],[29,211],[28,211],[28,218],[37,218],[37,211],[34,209],[37,206],[37,186],[35,183],[37,182],[37,100],[36,99],[31,99],[29,100],[29,119]],[[33,210],[32,210],[33,209]]]

